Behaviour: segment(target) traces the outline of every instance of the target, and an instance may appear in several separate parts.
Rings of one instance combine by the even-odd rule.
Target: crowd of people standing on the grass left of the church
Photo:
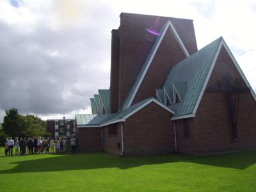
[[[13,156],[13,148],[15,155],[24,154],[49,154],[51,153],[67,153],[76,152],[76,137],[69,138],[7,138],[5,142],[5,155]]]

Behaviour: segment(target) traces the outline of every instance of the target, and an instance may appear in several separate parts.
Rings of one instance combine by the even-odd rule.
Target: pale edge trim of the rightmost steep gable
[[[253,99],[255,100],[256,102],[256,95],[255,93],[253,92],[253,89],[252,87],[250,86],[250,83],[247,81],[246,77],[244,76],[241,68],[239,67],[236,59],[234,58],[232,52],[230,51],[230,49],[228,48],[226,42],[223,40],[223,38],[221,37],[220,38],[220,42],[218,43],[218,49],[216,51],[216,53],[214,54],[214,59],[212,60],[212,63],[211,63],[211,66],[209,66],[209,70],[207,71],[207,76],[205,77],[204,79],[204,84],[202,85],[202,87],[200,88],[200,93],[196,99],[196,103],[195,103],[195,106],[193,106],[193,111],[192,113],[188,113],[188,114],[184,114],[184,115],[180,115],[180,116],[173,116],[172,117],[172,120],[177,120],[177,119],[180,119],[180,118],[188,118],[188,117],[195,117],[196,115],[196,111],[198,109],[198,106],[200,104],[200,101],[202,99],[202,96],[205,92],[205,88],[209,82],[209,79],[211,77],[211,74],[212,74],[212,70],[216,64],[216,61],[217,61],[217,58],[220,54],[220,50],[221,50],[221,47],[224,47],[225,48],[225,51],[227,51],[228,53],[228,56],[230,57],[230,59],[232,60],[232,63],[234,64],[234,66],[236,67],[237,71],[239,72],[240,76],[242,77],[244,83],[246,84],[246,86],[250,89],[250,93],[252,94],[252,97]]]

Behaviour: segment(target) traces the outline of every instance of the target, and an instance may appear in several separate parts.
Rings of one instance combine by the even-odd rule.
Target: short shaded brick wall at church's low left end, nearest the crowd
[[[77,128],[77,147],[80,152],[102,150],[100,128]]]

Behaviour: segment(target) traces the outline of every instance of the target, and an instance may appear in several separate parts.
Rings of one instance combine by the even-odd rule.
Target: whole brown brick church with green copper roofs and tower
[[[79,150],[117,156],[256,148],[256,95],[222,37],[202,49],[193,20],[121,13],[109,90],[76,115]]]

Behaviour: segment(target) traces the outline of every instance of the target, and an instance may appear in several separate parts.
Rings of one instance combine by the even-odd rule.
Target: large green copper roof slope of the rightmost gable
[[[193,113],[222,38],[195,52],[172,67],[164,85],[174,84],[182,102],[173,104],[175,116]]]

